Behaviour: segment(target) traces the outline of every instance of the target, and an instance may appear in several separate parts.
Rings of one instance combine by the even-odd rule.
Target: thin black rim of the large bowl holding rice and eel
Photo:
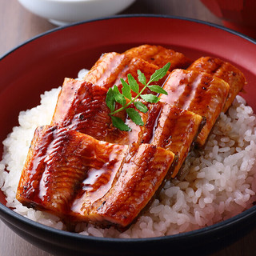
[[[211,22],[206,22],[202,20],[198,20],[195,18],[184,18],[184,17],[179,17],[179,16],[172,16],[172,15],[163,15],[163,14],[119,14],[119,15],[114,15],[114,16],[109,16],[106,18],[96,18],[96,19],[90,19],[84,22],[74,22],[70,25],[66,26],[59,26],[56,27],[52,30],[48,30],[42,34],[38,34],[37,36],[30,38],[29,40],[26,40],[25,42],[22,42],[18,46],[14,47],[13,49],[9,50],[6,52],[6,54],[3,54],[2,57],[0,57],[0,61],[2,61],[3,58],[6,58],[9,54],[14,52],[15,50],[18,50],[22,46],[25,46],[26,44],[33,42],[34,40],[41,38],[43,36],[46,36],[48,34],[52,34],[54,32],[58,32],[58,30],[65,30],[66,28],[70,28],[72,26],[79,26],[85,23],[89,22],[98,22],[102,20],[108,20],[108,19],[118,19],[118,18],[170,18],[170,19],[177,19],[177,20],[184,20],[188,22],[196,22],[200,23],[202,25],[206,26],[212,26],[215,28],[218,28],[219,30],[224,30],[230,34],[234,34],[240,38],[245,39],[246,41],[252,42],[253,44],[256,45],[256,40],[254,38],[250,38],[249,36],[246,36],[245,34],[242,34],[238,31],[231,30],[229,28],[226,28],[224,26],[214,24]],[[0,213],[3,213],[4,215],[10,215],[12,218],[17,219],[19,222],[22,222],[25,225],[37,228],[42,231],[50,232],[53,234],[58,234],[60,236],[69,238],[70,236],[79,240],[88,240],[90,241],[95,241],[95,242],[106,242],[106,243],[112,243],[112,242],[125,242],[125,243],[141,243],[141,242],[162,242],[162,241],[168,241],[168,240],[177,240],[181,238],[188,238],[188,237],[198,237],[202,235],[207,235],[210,234],[211,232],[218,232],[218,230],[227,230],[230,226],[233,226],[235,224],[238,224],[240,222],[246,221],[247,218],[253,217],[255,215],[256,217],[256,205],[250,207],[250,209],[244,210],[242,213],[235,215],[234,217],[228,218],[222,222],[215,223],[211,226],[206,226],[202,227],[198,230],[192,230],[189,232],[184,232],[180,234],[173,234],[173,235],[166,235],[162,237],[153,237],[153,238],[100,238],[100,237],[92,237],[92,236],[87,236],[84,234],[78,234],[78,233],[71,233],[66,230],[58,230],[50,226],[43,225],[38,222],[34,222],[33,220],[26,218],[22,216],[21,214],[18,214],[14,212],[14,210],[11,210],[7,206],[4,206],[2,203],[0,203]],[[4,222],[8,222],[7,219],[2,218],[0,216],[0,219],[2,219]],[[11,224],[11,223],[10,223]]]

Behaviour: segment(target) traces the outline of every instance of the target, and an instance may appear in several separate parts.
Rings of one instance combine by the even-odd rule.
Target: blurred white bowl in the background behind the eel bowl
[[[18,0],[27,10],[57,26],[103,18],[125,10],[135,0]]]

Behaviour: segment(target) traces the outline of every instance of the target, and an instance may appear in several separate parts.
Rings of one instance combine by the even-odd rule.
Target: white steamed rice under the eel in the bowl
[[[0,188],[6,194],[6,206],[36,222],[65,230],[59,218],[22,206],[15,199],[34,129],[50,124],[59,90],[47,91],[41,105],[19,114],[20,126],[3,142]],[[159,197],[129,230],[120,233],[113,227],[100,229],[79,223],[76,231],[98,237],[148,238],[196,230],[239,214],[256,202],[255,142],[255,115],[237,96],[228,113],[218,118],[205,149],[194,150],[186,159],[184,178],[166,182]]]

